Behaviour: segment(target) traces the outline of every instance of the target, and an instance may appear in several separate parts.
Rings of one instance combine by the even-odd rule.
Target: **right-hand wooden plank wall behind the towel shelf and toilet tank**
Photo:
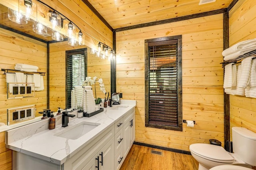
[[[256,1],[239,0],[229,12],[230,46],[256,38]],[[245,127],[256,132],[256,99],[230,95],[230,134],[232,127]]]

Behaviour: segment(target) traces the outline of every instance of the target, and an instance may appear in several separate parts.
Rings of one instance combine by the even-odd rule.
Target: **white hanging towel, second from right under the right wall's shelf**
[[[238,80],[237,87],[246,88],[250,76],[252,57],[247,57],[242,60],[241,77]]]

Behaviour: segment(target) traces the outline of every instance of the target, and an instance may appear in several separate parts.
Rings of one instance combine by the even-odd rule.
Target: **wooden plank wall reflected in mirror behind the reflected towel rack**
[[[36,65],[39,72],[46,73],[46,44],[0,28],[0,68],[14,69],[16,63]],[[46,76],[44,90],[36,91],[35,97],[7,99],[6,76],[0,74],[0,122],[7,123],[7,109],[36,105],[36,115],[46,109]]]

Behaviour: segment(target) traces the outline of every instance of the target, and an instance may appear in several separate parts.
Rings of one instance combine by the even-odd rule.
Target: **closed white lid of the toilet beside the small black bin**
[[[202,158],[214,162],[232,163],[234,158],[221,146],[212,144],[196,143],[189,146],[191,152]]]

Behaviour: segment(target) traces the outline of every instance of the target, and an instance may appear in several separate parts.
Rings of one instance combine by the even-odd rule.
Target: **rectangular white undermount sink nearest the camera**
[[[54,134],[54,136],[76,140],[99,125],[100,123],[81,122],[66,130],[62,130],[61,132]]]

